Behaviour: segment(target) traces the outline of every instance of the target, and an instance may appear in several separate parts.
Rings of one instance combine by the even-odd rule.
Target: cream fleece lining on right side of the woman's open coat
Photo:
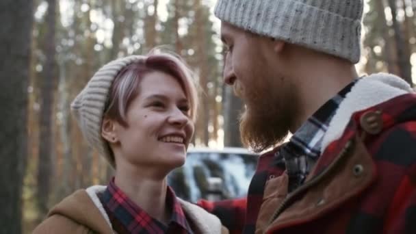
[[[198,227],[200,233],[229,233],[228,229],[222,226],[217,216],[209,213],[202,207],[177,198],[186,217]]]

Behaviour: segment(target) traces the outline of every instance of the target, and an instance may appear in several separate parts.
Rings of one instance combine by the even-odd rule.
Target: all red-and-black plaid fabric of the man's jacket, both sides
[[[278,233],[416,233],[416,94],[357,112],[340,140],[330,144],[324,155],[335,155],[346,139],[363,131],[361,116],[376,109],[382,110],[383,131],[365,142],[376,165],[376,181],[326,216],[287,226]],[[261,155],[246,199],[201,200],[198,205],[218,216],[231,233],[255,233],[265,183],[285,171],[284,161],[275,157],[277,150]],[[323,160],[317,168],[323,170],[328,164],[330,160]]]

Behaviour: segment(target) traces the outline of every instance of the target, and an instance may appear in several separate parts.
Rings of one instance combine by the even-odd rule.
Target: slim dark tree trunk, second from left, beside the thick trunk
[[[39,146],[38,161],[38,211],[39,218],[46,216],[51,192],[52,177],[52,126],[53,126],[53,90],[55,88],[55,23],[56,23],[56,1],[48,0],[46,16],[46,62],[44,77],[40,89],[40,135],[42,142]]]

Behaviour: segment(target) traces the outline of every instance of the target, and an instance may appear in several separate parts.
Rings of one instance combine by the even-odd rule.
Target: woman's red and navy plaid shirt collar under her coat
[[[135,205],[117,187],[114,178],[99,198],[116,233],[193,233],[185,218],[181,204],[169,186],[166,193],[166,205],[171,210],[172,216],[167,226],[149,216],[138,205]]]

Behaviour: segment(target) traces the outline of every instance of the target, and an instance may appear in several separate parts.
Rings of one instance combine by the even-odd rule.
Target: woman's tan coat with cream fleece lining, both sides
[[[107,213],[97,194],[105,186],[92,186],[87,190],[78,190],[57,204],[48,217],[34,230],[40,233],[114,233]],[[195,233],[229,233],[220,220],[204,209],[179,199],[183,211],[194,227]]]

